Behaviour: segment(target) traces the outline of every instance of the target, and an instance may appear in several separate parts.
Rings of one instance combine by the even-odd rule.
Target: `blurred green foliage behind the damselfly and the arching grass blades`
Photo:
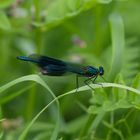
[[[103,66],[109,83],[140,90],[139,14],[139,0],[0,1],[0,138],[140,139],[140,97],[119,88],[65,96],[26,129],[53,99],[42,85],[30,81],[30,74],[39,75],[55,96],[76,88],[75,75],[42,76],[34,65],[16,59],[37,53]],[[18,82],[26,75],[30,82]],[[80,86],[84,79],[80,78]],[[8,88],[11,81],[14,86]]]

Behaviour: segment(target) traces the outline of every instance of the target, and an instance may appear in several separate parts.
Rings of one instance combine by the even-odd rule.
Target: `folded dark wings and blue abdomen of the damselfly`
[[[51,57],[32,54],[29,57],[18,56],[17,58],[36,64],[44,75],[61,76],[66,73],[76,73],[83,76],[85,75],[83,66],[64,62]]]

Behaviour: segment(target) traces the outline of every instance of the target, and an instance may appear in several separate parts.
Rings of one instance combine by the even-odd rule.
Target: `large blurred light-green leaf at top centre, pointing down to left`
[[[95,4],[94,0],[55,0],[48,6],[45,22],[35,21],[32,24],[37,27],[41,26],[43,29],[50,29],[92,8]]]

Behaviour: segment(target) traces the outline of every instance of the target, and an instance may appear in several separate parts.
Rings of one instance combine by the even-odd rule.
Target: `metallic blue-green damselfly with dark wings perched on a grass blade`
[[[28,57],[17,56],[17,59],[34,63],[39,67],[43,75],[63,76],[68,73],[76,74],[76,89],[79,88],[79,77],[86,77],[86,80],[84,80],[85,85],[94,90],[89,85],[89,82],[95,83],[98,76],[102,77],[104,75],[104,68],[102,66],[99,66],[99,68],[83,66],[39,54],[32,54]]]

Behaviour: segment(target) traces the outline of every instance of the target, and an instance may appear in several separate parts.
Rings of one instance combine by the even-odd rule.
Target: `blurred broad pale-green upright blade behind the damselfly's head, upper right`
[[[111,14],[109,17],[112,39],[112,65],[110,70],[110,79],[120,73],[122,68],[122,60],[124,55],[124,24],[119,14]]]

